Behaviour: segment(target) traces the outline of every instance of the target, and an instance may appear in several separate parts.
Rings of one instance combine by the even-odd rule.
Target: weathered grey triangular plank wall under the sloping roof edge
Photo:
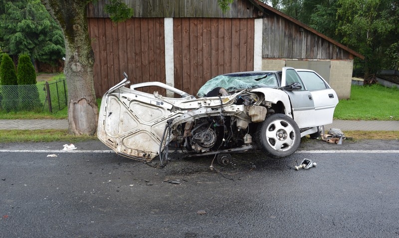
[[[346,50],[276,14],[263,18],[262,58],[348,59]]]

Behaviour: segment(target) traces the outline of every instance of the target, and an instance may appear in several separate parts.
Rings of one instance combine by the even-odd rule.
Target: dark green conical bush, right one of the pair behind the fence
[[[36,87],[36,72],[27,54],[19,55],[16,72],[19,85],[19,110],[40,110],[43,105],[40,102],[39,92]]]

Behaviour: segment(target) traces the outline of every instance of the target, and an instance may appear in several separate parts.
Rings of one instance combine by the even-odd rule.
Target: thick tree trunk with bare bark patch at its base
[[[69,131],[94,135],[98,107],[94,92],[93,64],[88,23],[87,0],[41,0],[60,24],[65,38],[64,74],[68,86]]]

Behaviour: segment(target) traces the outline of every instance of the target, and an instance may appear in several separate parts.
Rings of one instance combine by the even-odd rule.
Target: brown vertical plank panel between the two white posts
[[[223,73],[253,70],[252,18],[175,18],[175,87],[196,95]]]

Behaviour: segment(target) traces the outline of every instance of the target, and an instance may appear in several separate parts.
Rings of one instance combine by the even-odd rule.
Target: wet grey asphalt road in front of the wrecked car
[[[0,237],[399,237],[399,142],[319,143],[219,172],[180,154],[155,169],[88,144],[0,145]],[[317,167],[292,169],[304,158]]]

